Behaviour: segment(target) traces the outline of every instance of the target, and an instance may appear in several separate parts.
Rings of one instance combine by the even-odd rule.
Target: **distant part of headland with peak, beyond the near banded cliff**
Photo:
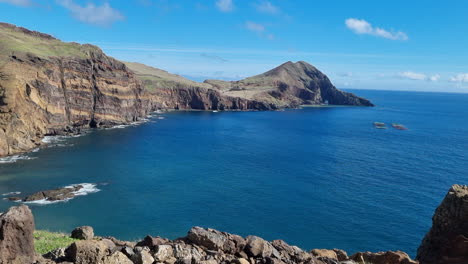
[[[273,110],[300,105],[373,106],[367,99],[336,89],[314,66],[287,62],[241,81],[206,80],[197,83],[181,76],[127,63],[160,108],[201,110]]]

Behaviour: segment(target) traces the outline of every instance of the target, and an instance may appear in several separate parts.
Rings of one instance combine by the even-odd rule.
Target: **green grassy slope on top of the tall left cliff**
[[[86,58],[90,51],[98,51],[92,45],[66,43],[27,34],[13,27],[0,25],[0,58],[20,53],[31,53],[38,57],[79,57]]]

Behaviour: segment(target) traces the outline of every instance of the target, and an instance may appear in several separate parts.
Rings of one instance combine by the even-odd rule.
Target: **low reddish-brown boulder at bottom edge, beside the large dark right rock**
[[[387,251],[387,252],[358,252],[350,257],[358,263],[373,263],[373,264],[418,264],[402,251]],[[423,263],[425,264],[425,263]]]

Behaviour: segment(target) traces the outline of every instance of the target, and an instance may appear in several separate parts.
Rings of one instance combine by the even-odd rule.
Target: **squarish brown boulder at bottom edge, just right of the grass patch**
[[[107,253],[107,245],[96,240],[76,241],[65,250],[67,259],[75,264],[101,263]]]

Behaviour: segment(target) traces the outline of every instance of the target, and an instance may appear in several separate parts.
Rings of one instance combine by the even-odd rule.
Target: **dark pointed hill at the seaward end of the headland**
[[[287,62],[266,73],[236,82],[207,80],[223,95],[273,104],[278,108],[299,105],[373,106],[364,98],[336,89],[328,77],[307,62]]]

